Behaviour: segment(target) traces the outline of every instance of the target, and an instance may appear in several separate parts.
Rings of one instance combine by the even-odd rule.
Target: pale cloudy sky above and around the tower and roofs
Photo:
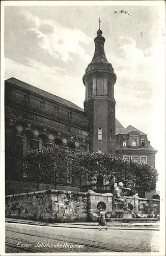
[[[94,54],[100,17],[105,54],[117,75],[116,118],[124,127],[131,124],[148,134],[158,150],[156,167],[161,174],[165,169],[164,6],[52,3],[5,7],[5,79],[15,77],[83,108],[82,76]]]

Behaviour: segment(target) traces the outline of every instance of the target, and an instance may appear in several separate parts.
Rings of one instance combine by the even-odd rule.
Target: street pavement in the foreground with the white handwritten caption
[[[158,230],[99,231],[97,227],[88,229],[6,223],[6,253],[158,251]]]

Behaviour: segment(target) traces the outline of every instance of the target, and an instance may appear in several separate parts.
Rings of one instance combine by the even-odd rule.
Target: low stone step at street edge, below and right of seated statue
[[[122,218],[109,218],[106,219],[107,223],[150,223],[158,222],[158,218],[132,218],[132,219],[122,219]]]

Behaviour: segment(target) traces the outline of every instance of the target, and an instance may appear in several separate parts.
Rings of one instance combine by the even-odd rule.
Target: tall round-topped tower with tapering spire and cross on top
[[[86,87],[84,109],[89,121],[90,152],[115,154],[114,84],[117,77],[106,59],[100,26],[94,42],[95,53],[82,78]]]

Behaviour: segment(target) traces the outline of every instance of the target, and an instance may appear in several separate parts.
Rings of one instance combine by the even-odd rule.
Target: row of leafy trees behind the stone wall
[[[43,147],[41,150],[31,150],[23,156],[24,171],[38,184],[47,179],[57,183],[59,174],[71,176],[79,184],[82,181],[97,181],[101,175],[109,183],[110,191],[114,190],[114,177],[125,186],[139,189],[139,195],[155,189],[157,170],[145,163],[135,163],[122,158],[116,158],[109,153],[70,152],[61,146]]]

